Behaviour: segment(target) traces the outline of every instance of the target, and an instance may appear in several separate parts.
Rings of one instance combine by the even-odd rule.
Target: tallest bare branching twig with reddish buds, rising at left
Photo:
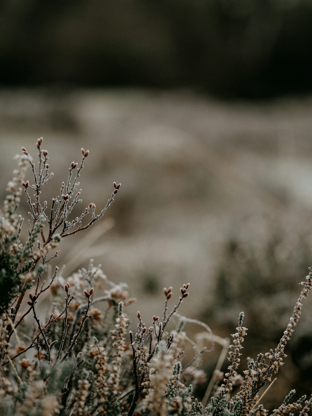
[[[22,174],[25,175],[25,161],[27,161],[32,170],[33,180],[34,183],[31,184],[30,181],[22,181],[21,184],[24,187],[27,203],[29,206],[30,219],[28,220],[28,243],[26,244],[27,254],[32,257],[32,261],[29,262],[29,270],[28,272],[32,272],[35,270],[37,263],[39,260],[42,260],[42,264],[46,262],[50,262],[53,258],[57,257],[59,251],[57,251],[52,257],[47,260],[47,254],[50,250],[53,250],[57,247],[60,243],[61,239],[67,237],[72,234],[76,234],[82,230],[86,230],[92,225],[95,221],[102,218],[106,209],[111,205],[114,201],[114,196],[118,192],[120,188],[120,183],[117,185],[114,182],[114,192],[111,194],[111,197],[107,201],[106,206],[101,210],[98,215],[95,215],[95,208],[96,206],[94,203],[90,203],[84,211],[76,218],[70,220],[69,215],[72,213],[74,206],[79,203],[82,203],[82,199],[78,199],[82,190],[77,188],[79,186],[79,177],[81,174],[82,169],[84,168],[84,162],[87,156],[89,155],[89,151],[84,151],[81,149],[82,153],[82,160],[79,163],[72,162],[69,167],[69,175],[67,179],[67,185],[62,182],[62,186],[60,189],[60,196],[56,198],[52,198],[51,209],[47,212],[47,201],[41,201],[41,193],[42,188],[47,184],[48,181],[53,177],[53,173],[49,173],[50,165],[47,163],[48,161],[48,151],[41,149],[42,145],[42,138],[37,140],[37,149],[38,149],[38,158],[39,158],[39,168],[38,172],[35,169],[35,163],[32,162],[32,158],[30,154],[27,152],[25,147],[22,147],[24,158],[21,158],[23,161],[22,167],[18,177],[21,177]],[[74,170],[76,170],[76,175],[73,174]],[[13,181],[15,183],[16,180]],[[15,194],[20,193],[20,185],[19,187],[16,186],[18,192]],[[33,194],[33,199],[30,195],[30,190],[35,191]],[[70,199],[72,202],[70,203]],[[10,198],[10,204],[6,204],[7,206],[12,206],[12,198]],[[12,211],[12,209],[11,209]],[[91,212],[91,219],[86,225],[82,225],[82,220]],[[44,233],[44,223],[48,224],[48,230]],[[69,231],[70,229],[74,228],[74,230]],[[19,227],[20,229],[20,227]],[[58,232],[58,233],[57,233]],[[20,231],[18,233],[18,236]],[[37,239],[37,235],[40,234],[41,241],[37,240],[37,249],[35,249],[35,240]],[[17,297],[12,321],[15,322],[15,317],[17,312],[20,309],[22,304],[22,300],[25,296],[25,292],[27,290],[27,283],[24,282],[22,289]]]

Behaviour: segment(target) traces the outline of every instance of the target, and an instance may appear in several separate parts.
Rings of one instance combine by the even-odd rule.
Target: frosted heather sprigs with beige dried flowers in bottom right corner
[[[277,374],[280,366],[284,364],[284,359],[287,357],[285,354],[285,346],[290,340],[294,327],[297,325],[301,309],[302,301],[306,299],[312,288],[312,268],[309,267],[309,275],[306,276],[306,281],[301,282],[303,289],[298,298],[290,322],[287,324],[287,328],[284,331],[280,342],[273,351],[266,354],[258,354],[256,360],[249,359],[248,369],[244,371],[245,378],[240,391],[233,397],[229,396],[233,386],[233,379],[236,377],[236,371],[238,370],[238,364],[240,363],[240,349],[242,348],[243,337],[246,334],[246,328],[242,327],[243,312],[240,313],[239,326],[236,328],[238,332],[233,334],[233,344],[230,348],[230,361],[231,365],[228,367],[229,372],[225,374],[224,384],[220,386],[218,394],[211,398],[211,404],[208,405],[206,412],[208,415],[223,416],[226,414],[238,414],[240,416],[253,414],[253,415],[267,415],[267,411],[262,405],[259,405],[259,391],[267,383],[272,381],[272,375]],[[265,358],[268,360],[266,362]],[[284,402],[279,406],[271,416],[282,415],[290,411],[294,411],[302,408],[302,401],[305,400],[305,396],[298,399],[296,403],[287,404],[290,397],[295,394],[292,390],[289,395],[286,396]],[[311,405],[307,402],[306,406]],[[258,407],[257,407],[258,406]],[[235,410],[234,410],[235,409]],[[228,413],[230,412],[230,413]],[[236,413],[235,413],[236,412]]]

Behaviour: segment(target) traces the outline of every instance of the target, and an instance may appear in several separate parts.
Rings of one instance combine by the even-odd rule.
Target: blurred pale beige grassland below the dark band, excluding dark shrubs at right
[[[80,148],[89,149],[83,205],[92,201],[100,208],[112,182],[121,182],[107,213],[115,225],[107,219],[103,233],[99,228],[76,235],[67,248],[64,241],[60,262],[69,262],[69,250],[77,247],[83,265],[94,257],[111,280],[129,283],[139,298],[131,313],[139,309],[146,321],[161,314],[164,286],[172,285],[178,295],[189,281],[191,297],[181,313],[198,317],[212,302],[229,240],[253,247],[260,261],[262,248],[278,232],[274,250],[282,265],[290,252],[300,253],[304,236],[307,264],[299,262],[301,268],[288,277],[297,274],[296,285],[304,279],[312,263],[311,110],[311,97],[218,102],[187,91],[3,89],[0,190],[5,192],[11,177],[13,156],[21,146],[34,156],[37,137],[44,137],[49,150],[55,195]],[[288,305],[288,298],[278,300],[279,285],[280,280],[272,302],[289,306],[287,318],[277,317],[286,325],[299,289]],[[225,307],[224,324],[232,324],[232,310],[227,314],[225,300],[218,301]],[[250,320],[257,307],[267,305],[255,305]],[[304,308],[306,324],[299,327],[307,326]],[[247,327],[250,320],[247,315]]]

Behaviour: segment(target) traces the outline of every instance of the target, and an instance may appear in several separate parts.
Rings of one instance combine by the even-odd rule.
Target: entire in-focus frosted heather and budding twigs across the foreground
[[[163,312],[151,316],[149,325],[138,312],[136,330],[129,330],[126,306],[134,299],[129,298],[126,284],[108,280],[92,259],[89,267],[74,267],[66,278],[63,268],[51,266],[63,239],[100,220],[120,184],[114,182],[114,191],[98,214],[94,203],[89,203],[72,218],[82,202],[79,177],[89,151],[82,149],[80,163],[70,163],[59,196],[48,203],[42,201],[42,188],[53,175],[48,152],[41,149],[42,139],[36,146],[38,166],[25,148],[17,157],[18,168],[0,213],[0,414],[280,416],[297,412],[308,416],[312,398],[302,396],[290,403],[295,390],[271,414],[260,394],[262,388],[272,386],[272,376],[287,357],[285,347],[312,287],[311,269],[277,347],[249,359],[245,371],[240,366],[247,328],[240,313],[228,351],[230,365],[223,374],[225,339],[213,335],[205,323],[177,312],[189,299],[189,283],[180,288],[171,308],[173,288],[164,288]],[[25,180],[27,166],[32,181]],[[24,220],[18,214],[23,190],[29,208],[25,243],[21,241]],[[40,308],[44,294],[50,300],[45,309]],[[42,309],[47,308],[45,316]],[[174,327],[173,317],[178,319]],[[186,324],[204,328],[198,339],[208,340],[211,347],[200,349],[185,331]],[[202,355],[217,343],[223,349],[201,399],[196,387],[207,379],[200,368]],[[195,354],[184,362],[186,344]]]

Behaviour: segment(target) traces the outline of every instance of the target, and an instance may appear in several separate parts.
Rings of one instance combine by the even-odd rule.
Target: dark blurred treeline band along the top
[[[312,90],[310,0],[2,0],[2,85]]]

